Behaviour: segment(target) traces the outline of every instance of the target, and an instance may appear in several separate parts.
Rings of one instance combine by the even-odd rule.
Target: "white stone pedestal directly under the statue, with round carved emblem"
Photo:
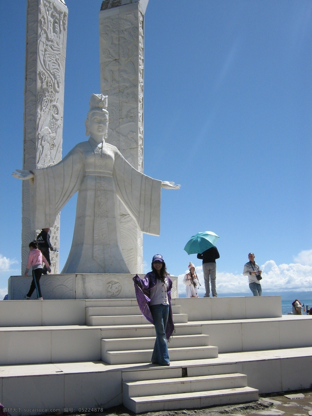
[[[68,275],[42,275],[40,287],[43,299],[131,299],[135,298],[132,274],[76,273]],[[144,277],[145,274],[140,275]],[[171,297],[178,297],[178,277],[172,280]],[[30,288],[31,276],[10,276],[8,299],[22,300]],[[36,291],[31,299],[36,299]]]

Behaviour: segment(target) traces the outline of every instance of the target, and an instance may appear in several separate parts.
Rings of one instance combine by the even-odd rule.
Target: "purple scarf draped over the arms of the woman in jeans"
[[[151,314],[151,310],[149,309],[149,302],[151,301],[151,289],[156,286],[157,277],[155,276],[154,272],[149,272],[147,275],[141,279],[139,275],[135,275],[132,280],[134,281],[134,289],[136,291],[136,300],[138,301],[138,305],[140,311],[146,317],[146,319],[154,325],[154,320]],[[167,295],[168,295],[168,302],[169,302],[169,315],[168,315],[168,322],[166,327],[166,338],[169,341],[171,335],[174,331],[174,323],[173,323],[173,316],[172,316],[172,307],[171,307],[171,288],[172,288],[172,280],[167,275],[168,280],[168,287],[167,287]]]

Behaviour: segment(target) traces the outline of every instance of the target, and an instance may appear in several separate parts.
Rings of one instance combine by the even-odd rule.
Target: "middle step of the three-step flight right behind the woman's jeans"
[[[155,337],[102,339],[103,351],[126,351],[131,349],[153,349]],[[168,347],[203,347],[209,345],[209,335],[176,335],[171,338]]]

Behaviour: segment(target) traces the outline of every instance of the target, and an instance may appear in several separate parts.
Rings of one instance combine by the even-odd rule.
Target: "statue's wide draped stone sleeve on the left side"
[[[56,165],[33,172],[35,177],[30,181],[31,229],[52,227],[59,211],[82,183],[82,155],[74,148]]]

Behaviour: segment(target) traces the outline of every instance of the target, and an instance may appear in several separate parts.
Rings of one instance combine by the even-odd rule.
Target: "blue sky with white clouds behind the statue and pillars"
[[[85,140],[89,97],[100,92],[101,0],[66,3],[63,156]],[[144,271],[161,253],[171,274],[183,275],[189,260],[201,272],[183,247],[212,230],[223,292],[248,291],[250,251],[266,267],[263,288],[311,290],[311,20],[305,0],[149,1],[144,173],[181,190],[162,191],[161,235],[144,235]],[[25,22],[26,1],[0,2],[3,291],[20,274],[21,182],[11,173],[22,167]],[[75,203],[61,212],[60,268]]]

